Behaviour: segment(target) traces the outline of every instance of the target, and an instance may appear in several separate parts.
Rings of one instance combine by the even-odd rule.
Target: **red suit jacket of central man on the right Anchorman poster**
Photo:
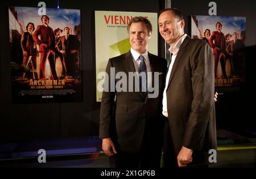
[[[212,46],[213,48],[213,54],[220,54],[220,52],[225,53],[226,40],[225,40],[224,33],[213,31],[212,35],[210,36],[209,43],[210,43],[210,46]],[[216,47],[220,48],[220,51],[217,50]]]

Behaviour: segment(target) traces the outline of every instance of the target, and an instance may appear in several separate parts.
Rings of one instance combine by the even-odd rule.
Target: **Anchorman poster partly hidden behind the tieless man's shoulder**
[[[203,39],[212,48],[220,92],[239,91],[245,84],[245,25],[245,17],[191,16],[192,39]]]

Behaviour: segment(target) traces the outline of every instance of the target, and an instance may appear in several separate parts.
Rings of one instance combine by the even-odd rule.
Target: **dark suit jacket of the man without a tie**
[[[206,41],[184,39],[166,94],[176,155],[182,146],[207,152],[216,148],[214,59]]]

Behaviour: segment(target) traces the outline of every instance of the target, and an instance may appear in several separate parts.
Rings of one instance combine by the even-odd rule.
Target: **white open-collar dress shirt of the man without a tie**
[[[172,47],[170,47],[169,51],[172,53],[172,60],[171,60],[171,64],[168,68],[168,72],[166,75],[166,87],[164,88],[164,92],[163,92],[163,115],[165,117],[168,117],[168,112],[167,112],[167,96],[166,96],[166,90],[168,87],[168,83],[169,83],[169,79],[170,79],[170,75],[171,75],[171,71],[172,71],[172,66],[174,66],[174,62],[175,62],[175,58],[177,56],[177,53],[179,52],[180,49],[180,45],[182,44],[182,42],[184,41],[185,37],[187,37],[187,34],[184,34],[179,41],[176,42],[176,44]],[[172,99],[169,99],[172,100]]]

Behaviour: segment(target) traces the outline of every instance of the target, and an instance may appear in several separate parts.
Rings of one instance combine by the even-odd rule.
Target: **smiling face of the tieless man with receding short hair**
[[[174,45],[184,34],[185,22],[177,19],[172,11],[164,11],[158,18],[160,35],[170,45]]]

